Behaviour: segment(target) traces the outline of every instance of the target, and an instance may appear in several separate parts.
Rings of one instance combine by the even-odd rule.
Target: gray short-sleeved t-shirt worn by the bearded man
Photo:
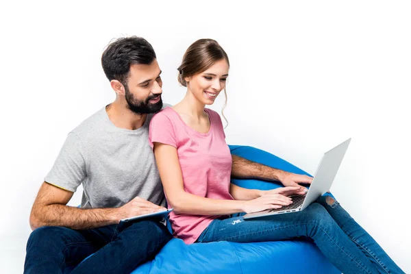
[[[165,206],[149,145],[152,117],[138,129],[121,129],[102,108],[69,133],[45,182],[73,192],[83,184],[82,208],[118,208],[136,196]]]

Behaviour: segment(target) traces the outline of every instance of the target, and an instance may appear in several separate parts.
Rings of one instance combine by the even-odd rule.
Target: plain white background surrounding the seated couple
[[[151,42],[172,104],[186,92],[176,80],[186,48],[219,41],[231,145],[314,173],[351,137],[332,192],[410,273],[410,3],[147,2],[1,2],[0,273],[23,271],[29,212],[66,134],[114,100],[100,58],[125,35]]]

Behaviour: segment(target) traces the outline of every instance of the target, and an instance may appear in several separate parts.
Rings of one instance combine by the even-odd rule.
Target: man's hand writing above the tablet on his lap
[[[140,216],[143,214],[149,214],[163,210],[166,210],[166,208],[163,208],[162,206],[157,206],[154,203],[151,203],[150,201],[147,201],[140,197],[136,197],[132,199],[132,201],[126,203],[124,206],[118,208],[116,216],[118,221],[120,221],[121,219],[126,219],[134,216]]]

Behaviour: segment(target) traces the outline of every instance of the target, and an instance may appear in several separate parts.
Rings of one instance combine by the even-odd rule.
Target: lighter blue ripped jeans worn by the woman
[[[264,242],[309,238],[340,271],[404,273],[377,242],[332,197],[320,197],[301,212],[264,219],[216,219],[197,242]],[[295,258],[298,263],[298,258]]]

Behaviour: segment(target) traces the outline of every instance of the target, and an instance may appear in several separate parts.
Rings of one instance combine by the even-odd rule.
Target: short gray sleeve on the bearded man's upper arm
[[[69,133],[45,182],[75,192],[86,179],[86,155],[79,137]]]

